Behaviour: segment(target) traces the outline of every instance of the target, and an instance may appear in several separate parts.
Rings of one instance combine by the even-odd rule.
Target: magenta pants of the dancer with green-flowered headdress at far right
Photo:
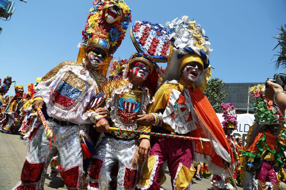
[[[255,179],[258,179],[262,183],[271,182],[272,184],[278,185],[278,180],[275,174],[273,164],[263,162],[261,169],[256,172]]]

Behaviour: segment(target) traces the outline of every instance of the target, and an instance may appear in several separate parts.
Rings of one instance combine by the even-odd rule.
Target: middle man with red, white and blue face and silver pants
[[[127,64],[127,78],[109,82],[102,93],[106,96],[111,126],[123,129],[150,131],[149,127],[139,126],[137,115],[145,114],[146,107],[154,101],[148,88],[157,77],[157,64],[151,56],[143,52],[133,54]],[[146,86],[145,86],[146,85]],[[88,113],[96,121],[98,132],[108,132],[109,123],[102,116]],[[89,169],[88,189],[109,189],[111,169],[118,161],[116,189],[135,189],[137,169],[140,161],[147,158],[150,150],[149,135],[135,135],[125,132],[106,133],[96,148]]]

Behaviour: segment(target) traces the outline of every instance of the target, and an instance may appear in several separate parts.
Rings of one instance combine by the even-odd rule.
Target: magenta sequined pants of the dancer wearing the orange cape
[[[187,168],[191,167],[193,162],[193,145],[192,141],[182,139],[169,139],[162,137],[152,137],[150,156],[158,155],[159,163],[153,179],[153,184],[149,189],[160,189],[159,171],[162,164],[168,159],[167,166],[171,174],[171,184],[176,176],[180,163]],[[174,189],[174,186],[173,186]]]

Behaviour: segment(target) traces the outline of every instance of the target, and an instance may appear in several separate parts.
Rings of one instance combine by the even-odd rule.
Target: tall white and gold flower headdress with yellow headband
[[[211,43],[205,35],[205,30],[194,20],[187,19],[188,16],[182,16],[182,19],[177,20],[176,18],[165,24],[169,31],[171,48],[164,81],[179,80],[181,69],[187,63],[195,61],[204,68],[195,85],[204,91],[208,79],[211,78],[209,66],[209,55],[212,51]]]

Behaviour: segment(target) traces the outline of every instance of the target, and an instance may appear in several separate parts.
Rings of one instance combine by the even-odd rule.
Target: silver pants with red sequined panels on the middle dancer
[[[137,141],[137,139],[115,139],[112,136],[103,138],[102,142],[96,148],[97,155],[93,156],[93,159],[96,159],[99,162],[91,164],[88,189],[110,189],[111,170],[117,162],[119,171],[116,189],[135,189],[137,166],[131,166],[131,164]],[[98,167],[98,165],[101,165],[101,167]],[[92,172],[99,172],[98,179],[92,179],[93,176],[96,176],[96,174],[93,174]],[[132,183],[132,181],[134,182]],[[98,184],[98,186],[91,187],[92,182]]]

